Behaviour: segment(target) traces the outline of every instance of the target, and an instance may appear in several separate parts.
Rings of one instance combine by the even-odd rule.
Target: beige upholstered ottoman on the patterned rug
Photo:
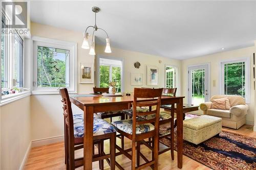
[[[199,144],[221,132],[221,118],[202,115],[183,121],[183,139]]]

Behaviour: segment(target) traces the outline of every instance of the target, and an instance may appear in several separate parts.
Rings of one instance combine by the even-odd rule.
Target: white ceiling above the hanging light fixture
[[[94,26],[93,6],[111,46],[125,50],[187,59],[256,40],[256,1],[32,1],[31,20],[84,32]],[[103,32],[96,36],[105,43]]]

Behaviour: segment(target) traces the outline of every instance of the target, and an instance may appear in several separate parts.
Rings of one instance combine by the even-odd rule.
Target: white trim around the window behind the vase
[[[121,92],[124,91],[124,59],[122,58],[115,58],[115,57],[109,57],[109,56],[97,56],[97,86],[99,87],[99,59],[110,59],[110,60],[119,60],[122,62],[122,68],[121,68]],[[112,65],[115,66],[115,65]]]

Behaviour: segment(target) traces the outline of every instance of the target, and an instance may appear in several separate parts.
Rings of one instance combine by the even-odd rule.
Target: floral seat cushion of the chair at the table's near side
[[[137,117],[137,121],[143,121],[145,119],[141,117]],[[125,119],[125,120],[118,120],[115,122],[112,122],[112,125],[114,125],[117,129],[132,134],[133,133],[133,119]],[[136,134],[146,133],[153,131],[155,129],[155,126],[152,124],[142,124],[142,125],[136,125]]]

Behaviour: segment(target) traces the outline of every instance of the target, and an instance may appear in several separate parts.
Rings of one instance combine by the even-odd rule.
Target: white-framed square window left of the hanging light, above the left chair
[[[67,87],[76,93],[77,45],[73,42],[32,37],[33,94],[55,94]]]

